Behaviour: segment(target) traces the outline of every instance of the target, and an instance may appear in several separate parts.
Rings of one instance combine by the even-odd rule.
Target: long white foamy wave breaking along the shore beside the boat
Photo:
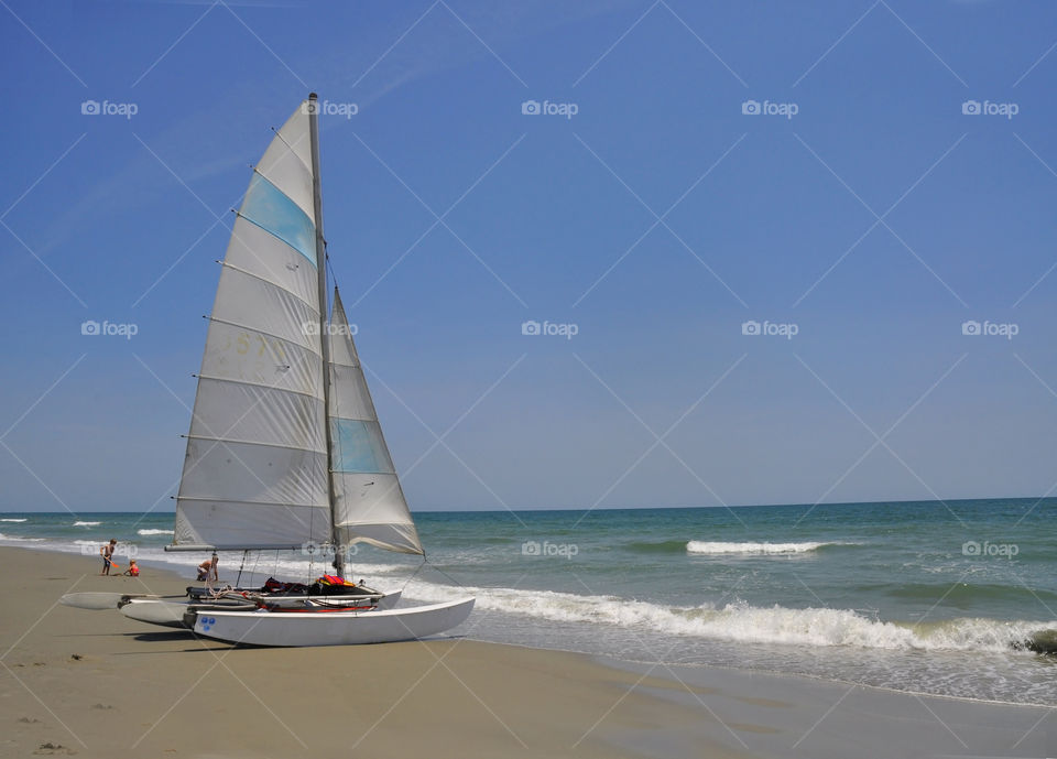
[[[741,601],[718,608],[707,604],[678,607],[554,590],[473,587],[458,590],[456,595],[476,595],[480,610],[741,643],[904,651],[1010,651],[1033,648],[1036,641],[1053,636],[1051,630],[1057,627],[1057,620],[962,618],[922,625],[879,621],[851,609],[759,607]],[[421,600],[445,600],[451,598],[453,589],[412,581],[405,595]]]

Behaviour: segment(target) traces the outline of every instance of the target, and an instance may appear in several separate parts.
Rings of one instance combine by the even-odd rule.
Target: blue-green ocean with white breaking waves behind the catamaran
[[[1057,499],[419,512],[428,553],[360,547],[347,573],[410,603],[470,593],[453,635],[634,662],[804,674],[1057,704]],[[3,513],[0,544],[165,553],[172,513]],[[175,565],[175,567],[174,567]],[[303,581],[318,557],[225,554],[221,578]],[[144,572],[150,582],[149,570]],[[1047,632],[1050,631],[1050,632]]]

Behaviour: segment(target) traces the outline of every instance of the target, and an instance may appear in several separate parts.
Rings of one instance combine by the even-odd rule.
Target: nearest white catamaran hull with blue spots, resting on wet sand
[[[201,611],[195,632],[251,646],[356,646],[414,640],[466,621],[473,598],[372,611]]]

